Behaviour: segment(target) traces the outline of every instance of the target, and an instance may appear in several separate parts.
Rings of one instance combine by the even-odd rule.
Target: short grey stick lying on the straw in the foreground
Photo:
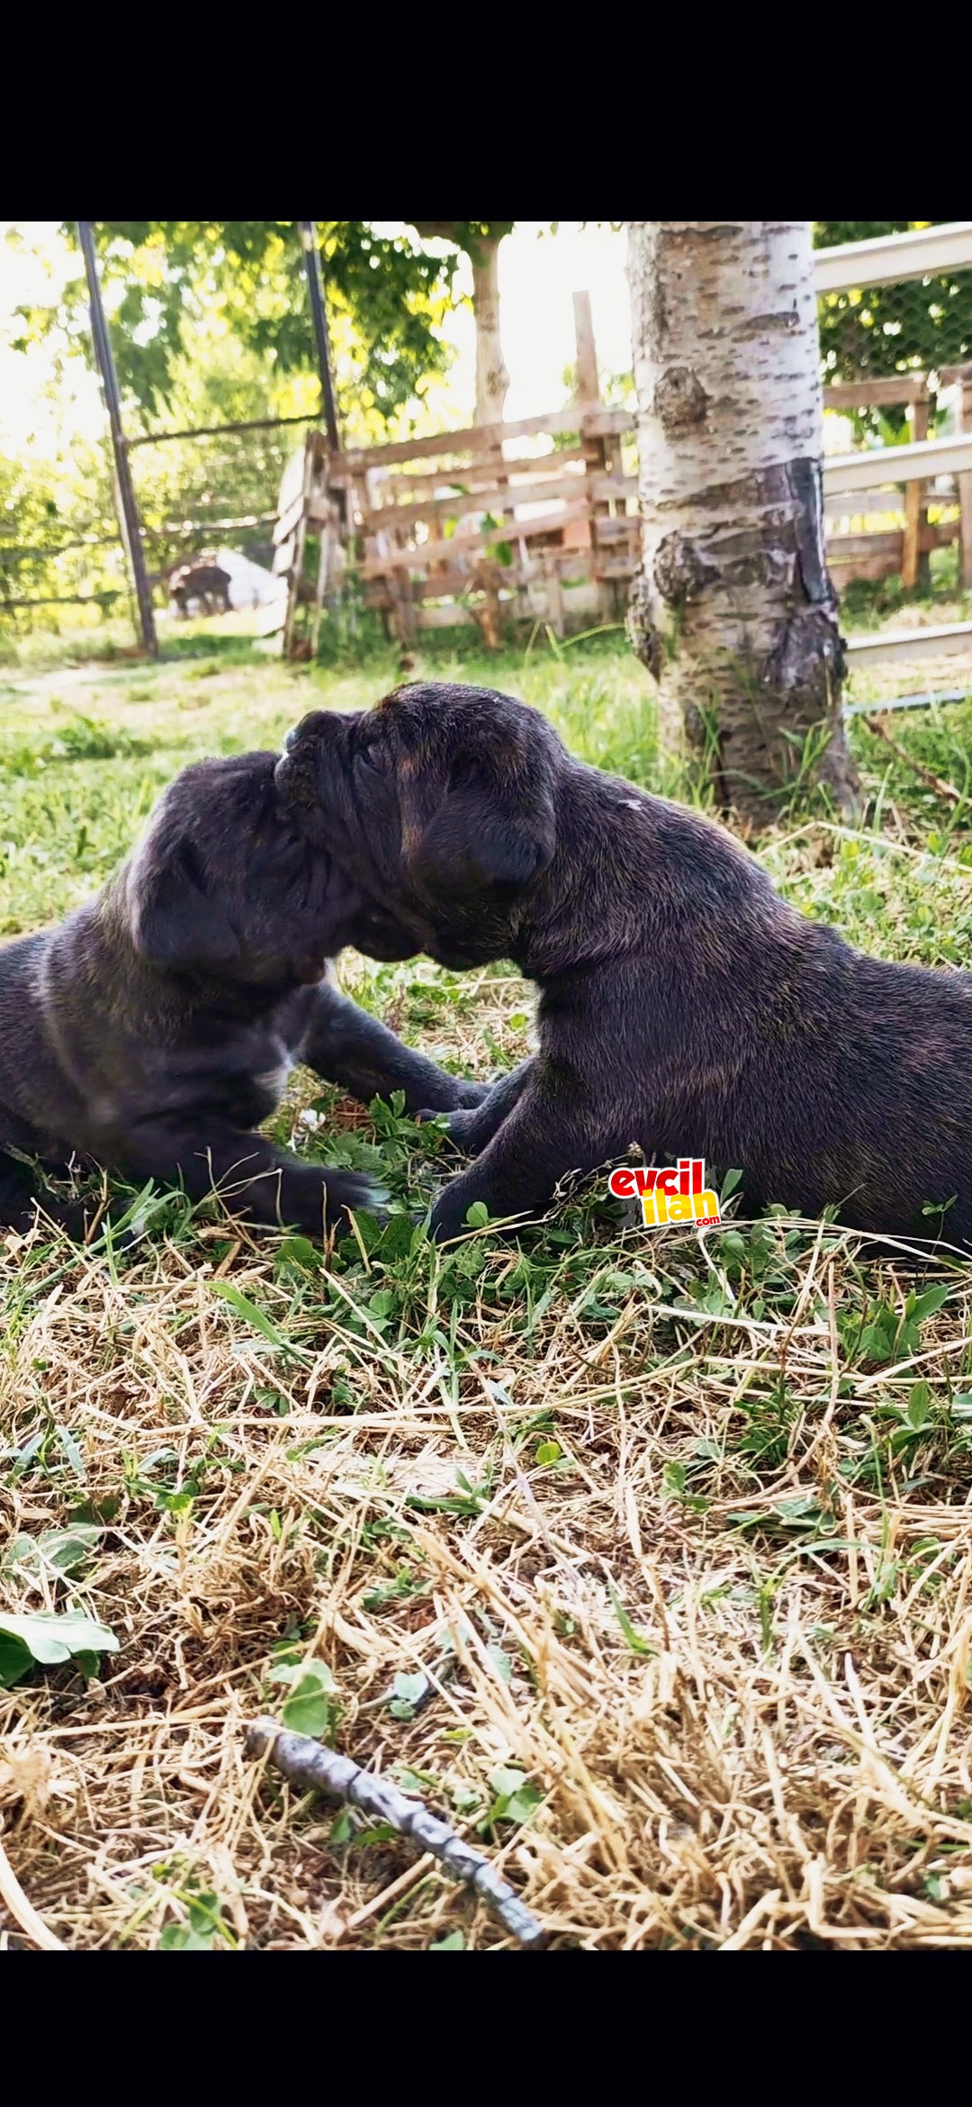
[[[377,1776],[351,1764],[349,1755],[335,1755],[309,1734],[288,1734],[276,1719],[255,1719],[246,1728],[246,1755],[265,1755],[290,1785],[303,1791],[330,1793],[332,1799],[347,1799],[379,1823],[387,1823],[398,1835],[408,1837],[438,1858],[452,1879],[475,1888],[501,1924],[522,1947],[534,1947],[543,1938],[543,1924],[526,1909],[515,1890],[497,1873],[482,1852],[450,1829],[448,1823],[423,1808],[421,1799],[406,1799],[389,1778]]]

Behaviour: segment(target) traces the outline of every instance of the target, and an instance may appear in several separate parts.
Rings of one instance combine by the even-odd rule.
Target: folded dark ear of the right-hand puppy
[[[463,754],[406,866],[427,898],[473,904],[515,893],[547,868],[553,849],[549,771],[532,761],[509,769],[494,754]]]

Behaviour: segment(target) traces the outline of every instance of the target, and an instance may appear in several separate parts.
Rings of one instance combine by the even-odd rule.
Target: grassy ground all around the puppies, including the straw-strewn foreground
[[[217,643],[11,672],[0,929],[95,889],[194,754],[396,683],[389,653],[288,670]],[[513,689],[585,759],[703,799],[659,767],[619,638],[444,645],[421,674]],[[892,727],[966,790],[972,702]],[[757,853],[854,942],[972,965],[972,811],[852,740],[858,826],[804,803]],[[345,978],[452,1068],[526,1051],[505,965]],[[377,1167],[391,1220],[322,1256],[158,1193],[133,1249],[38,1233],[0,1266],[0,1610],[69,1599],[122,1641],[0,1692],[4,1747],[61,1795],[40,1820],[0,1768],[34,1907],[80,1947],[494,1943],[438,1875],[400,1886],[381,1829],[269,1774],[246,1797],[240,1724],[316,1658],[339,1745],[511,1844],[564,1945],[968,1943],[972,1268],[732,1205],[705,1243],[623,1230],[602,1182],[436,1252],[412,1220],[452,1161],[436,1125],[297,1075],[274,1127]],[[44,1570],[80,1523],[72,1572]]]

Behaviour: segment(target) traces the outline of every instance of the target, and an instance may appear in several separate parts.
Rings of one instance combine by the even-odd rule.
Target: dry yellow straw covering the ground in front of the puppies
[[[200,1228],[122,1273],[11,1247],[2,1534],[82,1504],[103,1536],[67,1584],[6,1563],[0,1601],[69,1587],[122,1646],[0,1694],[0,1943],[511,1943],[244,1761],[288,1643],[332,1669],[337,1747],[553,1945],[972,1947],[972,1271],[926,1271],[949,1300],[875,1367],[846,1313],[903,1306],[909,1254],[863,1275],[852,1237],[772,1235],[787,1308],[753,1313],[720,1233],[663,1230],[589,1247],[530,1321],[486,1237],[421,1351],[423,1313],[368,1327],[322,1271],[297,1355],[215,1292],[290,1323],[271,1241]]]

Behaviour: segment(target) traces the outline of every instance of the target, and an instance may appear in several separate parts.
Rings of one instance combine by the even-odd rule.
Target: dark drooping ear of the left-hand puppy
[[[240,957],[225,906],[208,895],[187,836],[145,843],[128,872],[126,902],[135,948],[149,965],[191,971]]]

